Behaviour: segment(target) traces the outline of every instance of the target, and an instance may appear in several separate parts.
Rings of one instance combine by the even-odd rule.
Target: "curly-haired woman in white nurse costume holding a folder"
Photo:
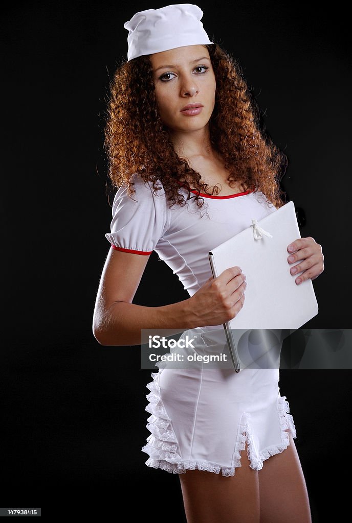
[[[143,328],[201,329],[216,350],[208,331],[246,306],[246,281],[237,266],[214,279],[207,253],[243,230],[249,215],[260,220],[284,203],[286,158],[260,131],[240,68],[208,39],[202,15],[195,5],[170,5],[136,13],[124,26],[128,61],[115,73],[106,126],[118,190],[93,318],[102,345],[139,345]],[[298,260],[301,281],[323,271],[313,238],[289,247],[293,278]],[[153,250],[189,299],[132,303]],[[311,521],[278,369],[159,364],[152,378],[142,450],[148,466],[179,474],[189,523]]]

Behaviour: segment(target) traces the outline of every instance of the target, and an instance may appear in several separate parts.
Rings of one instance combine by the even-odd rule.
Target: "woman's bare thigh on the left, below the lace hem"
[[[234,476],[188,470],[179,478],[188,523],[259,523],[258,471],[249,467],[247,444]]]

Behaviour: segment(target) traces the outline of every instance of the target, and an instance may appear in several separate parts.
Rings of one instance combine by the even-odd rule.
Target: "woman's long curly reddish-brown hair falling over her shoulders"
[[[260,110],[243,71],[218,43],[204,45],[210,55],[215,80],[215,106],[209,120],[210,142],[225,160],[227,180],[240,182],[244,190],[261,191],[277,208],[284,204],[280,179],[288,165],[287,156],[272,142],[261,122]],[[132,174],[152,182],[159,190],[160,180],[171,205],[185,205],[180,185],[188,190],[198,207],[208,192],[201,174],[175,152],[169,128],[160,119],[152,64],[149,55],[138,56],[118,66],[109,83],[104,130],[108,177],[113,187],[128,184],[134,194]],[[191,193],[191,189],[196,192]]]

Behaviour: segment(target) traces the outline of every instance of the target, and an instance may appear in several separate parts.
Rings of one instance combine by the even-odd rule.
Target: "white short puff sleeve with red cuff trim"
[[[164,189],[153,194],[152,183],[139,175],[131,177],[135,193],[128,196],[127,183],[116,192],[111,233],[105,237],[113,249],[134,254],[151,254],[169,226],[169,212]]]

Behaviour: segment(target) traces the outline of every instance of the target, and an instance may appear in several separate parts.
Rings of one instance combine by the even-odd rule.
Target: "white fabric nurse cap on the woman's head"
[[[214,43],[203,28],[202,16],[202,9],[194,4],[173,4],[136,13],[124,24],[128,30],[127,61],[175,47]]]

